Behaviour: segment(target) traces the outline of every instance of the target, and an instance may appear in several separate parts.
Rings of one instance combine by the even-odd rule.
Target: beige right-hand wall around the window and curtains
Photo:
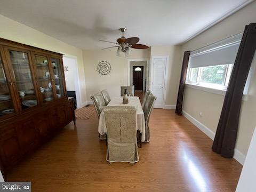
[[[256,22],[256,2],[247,5],[242,10],[183,44],[182,54],[184,51],[193,51],[199,47],[241,33],[245,25],[251,22]],[[252,65],[256,65],[256,63],[254,62]],[[236,148],[244,155],[247,154],[253,129],[256,125],[256,118],[254,117],[256,114],[256,73],[254,73],[251,82],[248,100],[242,103],[236,143]],[[183,110],[215,132],[222,109],[223,99],[224,97],[222,95],[187,87],[185,90]],[[198,114],[201,111],[203,112],[203,116],[199,117]]]

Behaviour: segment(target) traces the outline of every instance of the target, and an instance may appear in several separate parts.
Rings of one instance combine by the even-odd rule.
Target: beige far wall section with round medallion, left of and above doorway
[[[132,59],[149,59],[150,49],[132,49]],[[87,101],[93,95],[103,89],[107,89],[110,97],[120,95],[120,86],[127,85],[127,58],[122,55],[116,56],[116,49],[107,50],[83,50],[83,61],[85,69]],[[111,65],[111,72],[108,75],[101,75],[97,71],[100,61],[108,61]]]

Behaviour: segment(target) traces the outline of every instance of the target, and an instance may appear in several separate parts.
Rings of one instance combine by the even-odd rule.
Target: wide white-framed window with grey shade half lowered
[[[186,83],[226,91],[240,42],[241,36],[191,52]]]

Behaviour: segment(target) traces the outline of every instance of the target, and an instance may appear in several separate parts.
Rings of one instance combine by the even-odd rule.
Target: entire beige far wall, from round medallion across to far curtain
[[[181,46],[152,46],[147,50],[132,49],[132,55],[129,58],[125,58],[124,55],[117,57],[116,49],[83,50],[87,101],[90,101],[90,95],[102,89],[107,89],[111,97],[120,94],[120,86],[127,84],[127,59],[150,59],[151,55],[169,55],[165,105],[175,105],[180,78],[180,73],[177,71],[181,68],[180,50]],[[108,75],[100,75],[96,71],[100,61],[110,63],[112,70]]]

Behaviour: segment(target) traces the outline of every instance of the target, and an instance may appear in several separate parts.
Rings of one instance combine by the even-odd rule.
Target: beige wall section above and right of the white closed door
[[[176,105],[181,70],[181,46],[152,46],[152,55],[169,55],[165,105]],[[177,73],[178,71],[178,73]]]

